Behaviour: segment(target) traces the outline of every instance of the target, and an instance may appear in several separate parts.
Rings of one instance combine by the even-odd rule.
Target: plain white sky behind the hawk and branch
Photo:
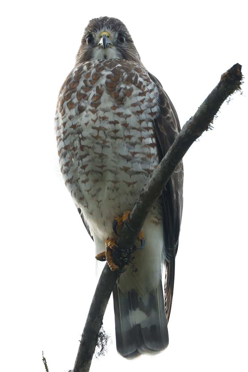
[[[72,369],[96,285],[94,246],[59,175],[54,113],[88,21],[131,33],[183,125],[235,63],[247,71],[245,1],[9,1],[1,6],[1,371]],[[170,344],[91,371],[247,370],[247,83],[184,157]]]

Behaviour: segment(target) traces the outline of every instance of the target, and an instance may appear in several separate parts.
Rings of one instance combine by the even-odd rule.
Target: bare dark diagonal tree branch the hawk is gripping
[[[154,171],[151,180],[141,190],[140,198],[129,216],[130,225],[135,232],[123,225],[117,241],[118,247],[130,249],[135,244],[138,232],[142,229],[149,210],[160,197],[174,169],[193,142],[210,128],[222,103],[236,90],[240,90],[242,84],[241,67],[237,63],[226,71],[221,76],[218,85],[204,100],[194,116],[184,124],[173,145]],[[88,372],[90,369],[107,302],[119,275],[110,271],[108,265],[105,265],[90,306],[75,361],[74,372]]]

